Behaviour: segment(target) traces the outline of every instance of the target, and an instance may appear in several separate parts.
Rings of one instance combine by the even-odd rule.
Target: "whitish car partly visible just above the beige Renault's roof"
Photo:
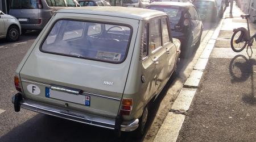
[[[146,8],[150,4],[150,0],[123,0],[123,7],[139,7]]]

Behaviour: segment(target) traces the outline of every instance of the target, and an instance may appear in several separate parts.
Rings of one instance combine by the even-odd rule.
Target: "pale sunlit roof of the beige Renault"
[[[165,12],[157,11],[157,10],[140,9],[135,7],[119,7],[119,6],[72,7],[67,9],[61,9],[61,10],[58,10],[57,12],[117,16],[122,18],[130,18],[130,19],[138,19],[138,20],[152,18],[154,16],[167,15]]]

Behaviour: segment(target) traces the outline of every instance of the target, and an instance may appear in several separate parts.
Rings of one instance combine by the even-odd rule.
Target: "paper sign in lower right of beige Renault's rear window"
[[[114,52],[98,51],[96,58],[109,61],[120,61],[121,54]]]

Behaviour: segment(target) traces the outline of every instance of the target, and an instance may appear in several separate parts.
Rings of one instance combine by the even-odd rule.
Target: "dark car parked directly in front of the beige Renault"
[[[148,9],[159,10],[168,14],[171,19],[172,36],[181,41],[181,56],[184,57],[193,45],[196,47],[200,45],[203,23],[192,3],[153,2]]]

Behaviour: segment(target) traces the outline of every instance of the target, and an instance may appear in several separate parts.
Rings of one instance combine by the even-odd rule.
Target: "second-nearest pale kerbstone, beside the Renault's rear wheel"
[[[192,99],[196,94],[196,89],[183,88],[180,91],[179,96],[176,98],[172,105],[172,110],[178,110],[180,112],[186,112],[191,105]]]

